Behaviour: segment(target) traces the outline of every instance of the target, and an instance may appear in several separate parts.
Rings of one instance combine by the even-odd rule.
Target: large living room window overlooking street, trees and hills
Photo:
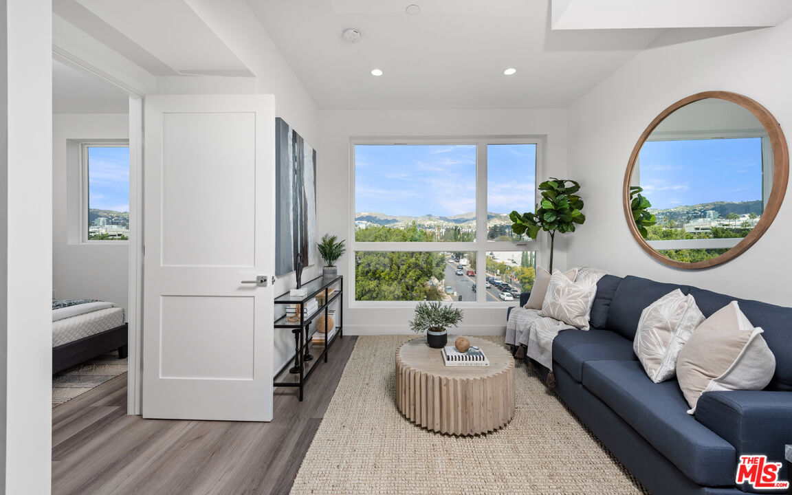
[[[534,209],[541,143],[353,141],[354,301],[498,304],[499,271],[512,282],[503,291],[532,284],[536,244],[511,232],[508,214]]]

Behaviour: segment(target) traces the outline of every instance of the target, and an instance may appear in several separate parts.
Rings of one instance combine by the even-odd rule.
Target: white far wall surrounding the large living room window
[[[319,234],[329,232],[353,239],[350,190],[352,164],[350,138],[361,137],[465,137],[546,135],[546,156],[537,177],[567,176],[567,116],[565,109],[515,110],[322,110],[317,203]],[[540,234],[540,237],[546,237]],[[338,271],[349,280],[354,267],[351,249],[338,262]],[[541,259],[540,259],[541,262]],[[563,239],[556,241],[554,267],[566,265]],[[349,284],[345,284],[349,287]],[[352,294],[344,295],[344,331],[350,334],[409,333],[411,308],[383,303],[375,308],[349,307]],[[467,306],[459,333],[503,333],[506,305]]]

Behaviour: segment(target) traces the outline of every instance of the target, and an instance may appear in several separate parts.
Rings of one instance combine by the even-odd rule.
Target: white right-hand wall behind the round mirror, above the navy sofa
[[[786,263],[792,244],[792,200],[748,252],[706,270],[670,268],[630,235],[622,184],[630,152],[668,105],[693,93],[729,90],[764,105],[782,128],[792,123],[789,82],[792,21],[775,28],[676,43],[670,32],[569,108],[569,175],[581,181],[586,223],[569,239],[569,260],[615,275],[691,284],[737,297],[790,304]],[[676,44],[675,44],[676,43]],[[789,137],[789,135],[787,135]]]

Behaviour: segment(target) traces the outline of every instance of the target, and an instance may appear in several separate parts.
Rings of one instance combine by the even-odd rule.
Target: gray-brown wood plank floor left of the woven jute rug
[[[276,388],[270,423],[127,415],[121,375],[52,410],[53,495],[288,493],[356,337],[339,339],[305,389]]]

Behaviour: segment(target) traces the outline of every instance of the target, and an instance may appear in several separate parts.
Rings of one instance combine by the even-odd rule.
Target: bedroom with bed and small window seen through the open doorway
[[[53,408],[128,372],[130,102],[128,90],[54,56]]]

